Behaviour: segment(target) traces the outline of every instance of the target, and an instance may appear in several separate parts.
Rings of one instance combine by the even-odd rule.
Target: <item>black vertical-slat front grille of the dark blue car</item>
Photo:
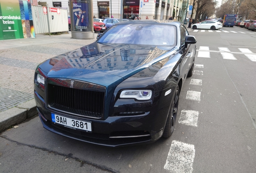
[[[105,87],[87,82],[58,78],[47,80],[47,106],[81,117],[103,117]]]

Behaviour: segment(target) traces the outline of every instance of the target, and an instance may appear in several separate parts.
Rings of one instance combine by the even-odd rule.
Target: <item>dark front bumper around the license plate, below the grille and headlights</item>
[[[149,112],[137,116],[113,116],[105,120],[74,117],[47,108],[43,98],[35,92],[37,111],[43,127],[49,131],[77,139],[87,143],[103,145],[107,147],[120,147],[126,145],[139,145],[152,143],[163,135],[163,129],[167,119],[167,111],[156,115],[152,107]],[[55,113],[64,117],[70,117],[92,123],[92,132],[78,131],[63,127],[51,121],[50,115]],[[164,118],[163,118],[164,117]]]

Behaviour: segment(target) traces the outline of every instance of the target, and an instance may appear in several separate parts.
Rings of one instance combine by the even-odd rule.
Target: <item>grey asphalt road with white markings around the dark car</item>
[[[169,139],[105,148],[51,133],[33,117],[0,135],[0,172],[255,172],[256,32],[223,30],[189,31],[197,39],[196,66]]]

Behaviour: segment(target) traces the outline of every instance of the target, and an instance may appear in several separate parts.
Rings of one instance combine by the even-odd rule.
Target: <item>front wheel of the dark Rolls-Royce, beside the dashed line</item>
[[[174,98],[171,100],[171,107],[169,110],[167,121],[165,123],[164,131],[163,131],[164,138],[169,138],[174,131],[175,121],[178,113],[179,95],[180,95],[180,90],[179,90],[179,86],[177,85],[176,91],[174,93]]]

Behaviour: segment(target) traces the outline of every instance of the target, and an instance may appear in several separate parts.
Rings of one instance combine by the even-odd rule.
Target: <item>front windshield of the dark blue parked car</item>
[[[167,24],[113,25],[97,42],[176,46],[176,28]]]

